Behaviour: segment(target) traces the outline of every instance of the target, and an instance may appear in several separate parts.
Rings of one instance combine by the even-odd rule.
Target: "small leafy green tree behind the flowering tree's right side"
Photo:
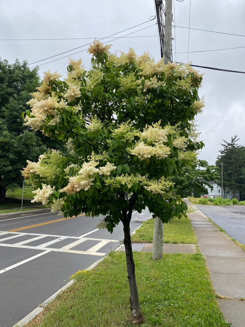
[[[208,181],[220,180],[218,167],[209,165],[206,160],[197,160],[191,167],[185,167],[181,174],[174,176],[175,192],[182,198],[190,195],[207,194]]]

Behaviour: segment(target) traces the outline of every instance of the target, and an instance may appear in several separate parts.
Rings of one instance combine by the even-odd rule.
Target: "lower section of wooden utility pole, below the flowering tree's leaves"
[[[160,218],[154,219],[154,233],[153,233],[153,251],[152,259],[161,260],[163,254],[163,222]]]

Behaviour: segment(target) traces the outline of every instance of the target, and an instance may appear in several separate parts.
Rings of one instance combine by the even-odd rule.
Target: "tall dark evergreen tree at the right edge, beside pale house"
[[[231,138],[231,142],[225,140],[223,149],[217,157],[216,165],[219,167],[221,175],[221,163],[223,163],[223,187],[233,192],[232,197],[235,198],[235,191],[244,190],[243,168],[245,167],[245,148],[238,145],[239,138],[237,135]]]

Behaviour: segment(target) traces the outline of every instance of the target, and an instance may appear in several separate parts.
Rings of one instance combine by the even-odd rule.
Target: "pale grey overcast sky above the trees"
[[[9,63],[16,58],[28,63],[42,60],[30,65],[39,65],[41,77],[47,70],[66,75],[68,58],[60,58],[82,58],[89,69],[86,44],[124,30],[103,40],[112,44],[111,51],[128,52],[133,47],[138,55],[149,50],[159,60],[156,20],[149,21],[154,16],[154,0],[1,0],[0,57]],[[244,0],[173,0],[173,60],[245,72],[244,17]],[[199,159],[214,164],[223,140],[237,134],[239,144],[245,145],[245,74],[198,70],[205,73],[199,95],[206,102],[198,116],[205,143]]]

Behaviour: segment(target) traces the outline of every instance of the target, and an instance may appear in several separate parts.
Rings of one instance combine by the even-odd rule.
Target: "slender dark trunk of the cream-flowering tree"
[[[124,240],[123,244],[125,246],[126,253],[126,263],[127,263],[127,273],[128,273],[128,284],[130,289],[130,309],[131,309],[131,318],[133,324],[140,324],[143,322],[144,317],[142,310],[139,304],[139,294],[135,277],[135,263],[133,258],[133,250],[131,243],[131,235],[130,235],[130,214],[127,217],[123,218],[123,232],[124,232]]]

